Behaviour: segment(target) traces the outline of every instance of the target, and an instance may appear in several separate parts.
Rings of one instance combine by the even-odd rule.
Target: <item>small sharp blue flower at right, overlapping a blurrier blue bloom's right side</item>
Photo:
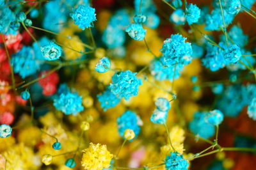
[[[223,52],[227,64],[236,63],[242,56],[240,47],[236,44],[229,45]]]

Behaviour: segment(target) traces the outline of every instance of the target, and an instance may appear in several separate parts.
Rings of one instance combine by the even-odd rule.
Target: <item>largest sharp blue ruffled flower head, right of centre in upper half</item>
[[[161,52],[163,58],[161,62],[164,66],[170,66],[175,63],[179,65],[188,65],[191,62],[192,47],[191,43],[185,42],[187,38],[176,34],[164,40]]]

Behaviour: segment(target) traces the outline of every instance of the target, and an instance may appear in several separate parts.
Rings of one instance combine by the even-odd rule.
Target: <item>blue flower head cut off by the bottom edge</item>
[[[189,166],[188,161],[177,151],[171,151],[170,155],[166,156],[164,164],[167,170],[186,170]]]

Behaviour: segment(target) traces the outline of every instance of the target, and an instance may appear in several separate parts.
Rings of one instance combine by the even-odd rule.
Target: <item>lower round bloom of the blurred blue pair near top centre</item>
[[[108,26],[103,31],[102,42],[104,42],[108,48],[120,47],[125,42],[125,33],[118,27]]]

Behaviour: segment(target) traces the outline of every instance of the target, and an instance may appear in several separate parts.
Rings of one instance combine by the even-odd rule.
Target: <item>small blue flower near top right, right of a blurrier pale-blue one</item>
[[[200,18],[200,8],[198,8],[196,4],[188,4],[188,6],[186,6],[185,17],[189,25],[198,22]]]

